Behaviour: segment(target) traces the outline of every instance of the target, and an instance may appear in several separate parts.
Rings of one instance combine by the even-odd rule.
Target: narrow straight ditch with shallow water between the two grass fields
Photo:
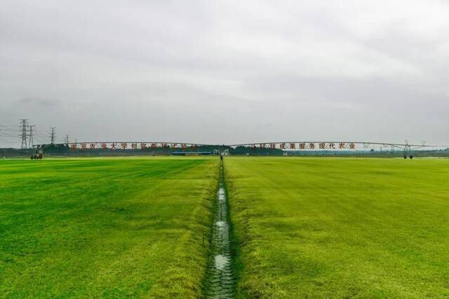
[[[220,187],[213,223],[212,254],[206,276],[206,298],[234,298],[231,241],[227,215],[227,196],[223,164],[220,165]]]

